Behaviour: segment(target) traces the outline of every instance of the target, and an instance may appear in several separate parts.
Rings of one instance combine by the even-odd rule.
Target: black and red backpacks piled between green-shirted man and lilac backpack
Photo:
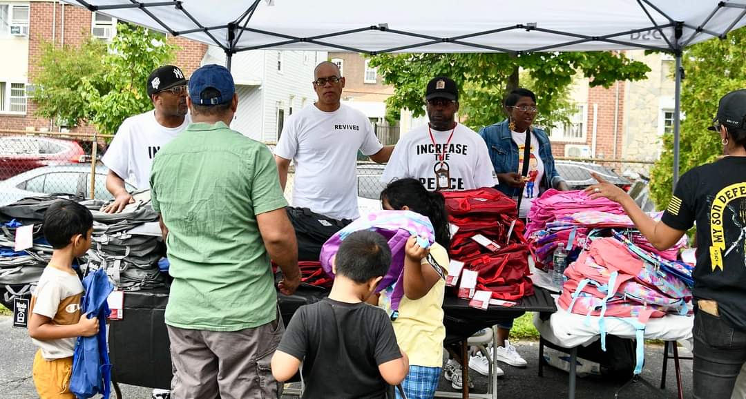
[[[295,239],[298,241],[298,268],[301,269],[301,283],[330,288],[333,279],[324,272],[319,262],[322,246],[327,239],[352,221],[333,219],[314,213],[308,208],[287,207],[286,211],[295,229]]]

